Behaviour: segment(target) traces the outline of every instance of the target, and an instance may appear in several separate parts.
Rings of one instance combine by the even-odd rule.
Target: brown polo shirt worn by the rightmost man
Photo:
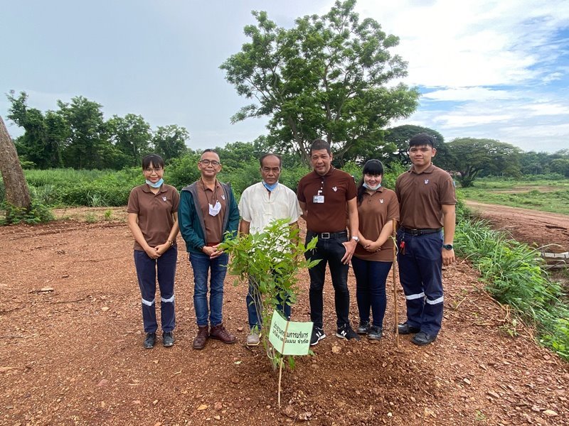
[[[413,166],[399,175],[395,193],[400,204],[400,224],[408,229],[441,228],[442,204],[457,204],[451,176],[432,163],[422,173],[415,173]]]

